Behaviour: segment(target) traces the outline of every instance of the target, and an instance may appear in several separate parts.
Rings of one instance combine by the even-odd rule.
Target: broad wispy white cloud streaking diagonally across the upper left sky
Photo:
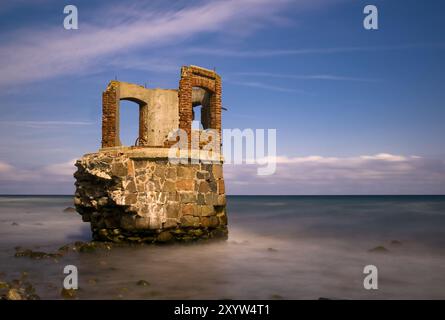
[[[94,19],[82,21],[79,30],[67,31],[57,26],[17,31],[11,37],[13,40],[3,43],[0,48],[0,85],[91,72],[92,68],[106,67],[108,62],[104,58],[130,50],[177,45],[198,34],[226,32],[249,23],[258,27],[291,1],[197,3],[182,8],[150,7],[151,3],[121,5],[119,10],[112,7],[105,12],[96,12],[96,15],[90,12],[89,16]],[[97,16],[103,19],[96,19]]]

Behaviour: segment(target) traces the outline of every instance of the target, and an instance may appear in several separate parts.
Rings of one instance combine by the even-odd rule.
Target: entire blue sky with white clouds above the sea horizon
[[[65,30],[74,4],[79,29]],[[378,8],[379,29],[363,27]],[[276,129],[277,170],[229,194],[444,194],[445,2],[0,0],[0,194],[72,194],[110,80],[222,77],[224,128]],[[121,138],[137,135],[121,103]]]

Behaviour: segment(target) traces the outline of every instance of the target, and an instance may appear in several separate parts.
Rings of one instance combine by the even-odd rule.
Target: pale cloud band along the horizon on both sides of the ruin
[[[276,160],[277,170],[269,176],[257,175],[256,165],[225,165],[228,194],[445,194],[443,159],[380,153],[356,157],[281,156],[270,160]],[[72,194],[74,162],[32,170],[0,162],[0,194],[17,190],[23,190],[19,194],[39,194],[39,190],[51,189]]]

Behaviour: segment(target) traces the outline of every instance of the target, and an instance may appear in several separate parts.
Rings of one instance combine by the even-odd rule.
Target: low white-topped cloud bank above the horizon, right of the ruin
[[[228,191],[235,194],[445,193],[445,161],[441,159],[380,153],[356,157],[281,156],[267,160],[277,163],[276,173],[270,176],[258,176],[255,165],[226,165]]]

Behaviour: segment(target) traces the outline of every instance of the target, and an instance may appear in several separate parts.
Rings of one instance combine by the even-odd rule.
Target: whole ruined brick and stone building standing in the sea
[[[181,69],[178,89],[111,81],[102,99],[102,148],[79,159],[74,174],[76,210],[90,222],[93,238],[166,242],[226,237],[220,140],[214,141],[211,157],[196,152],[201,143],[190,143],[185,162],[172,162],[171,153],[169,158],[178,140],[169,136],[175,130],[187,133],[188,142],[208,131],[216,132],[216,139],[221,136],[220,76],[187,66]],[[121,100],[139,105],[134,146],[120,142]],[[192,129],[199,105],[202,129]]]

